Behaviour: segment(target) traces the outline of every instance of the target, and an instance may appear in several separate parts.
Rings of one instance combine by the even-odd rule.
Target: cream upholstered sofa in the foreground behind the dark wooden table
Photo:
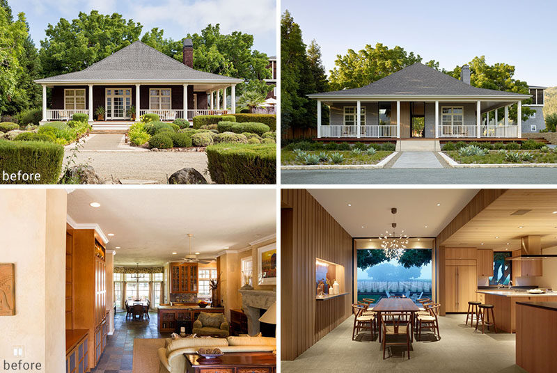
[[[201,347],[217,348],[226,352],[272,352],[276,350],[276,338],[228,337],[228,338],[180,338],[166,340],[166,347],[158,349],[159,373],[184,373],[186,358],[183,354],[195,354]]]

